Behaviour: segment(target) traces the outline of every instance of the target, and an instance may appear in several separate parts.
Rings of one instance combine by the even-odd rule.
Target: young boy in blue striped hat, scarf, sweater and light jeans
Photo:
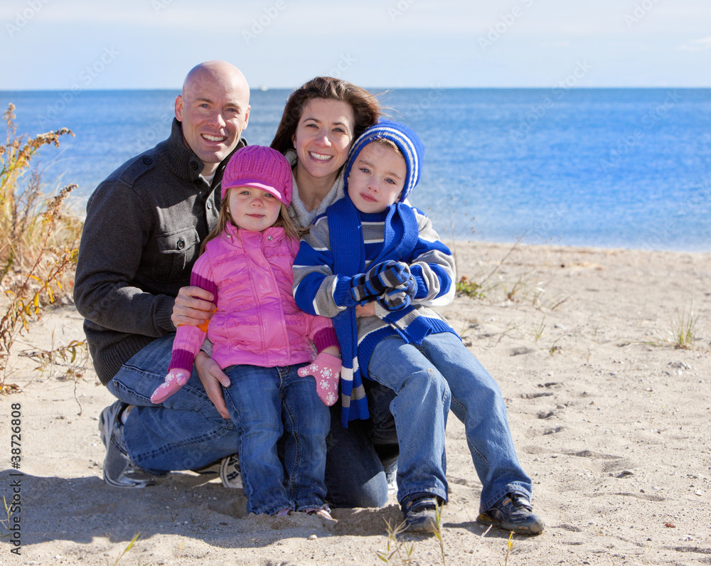
[[[294,260],[296,304],[333,318],[343,358],[343,426],[368,416],[361,374],[397,393],[390,411],[408,530],[432,531],[438,498],[447,501],[451,392],[482,484],[476,520],[538,534],[544,524],[530,505],[531,481],[518,463],[501,390],[428,308],[454,297],[454,260],[429,219],[404,202],[419,180],[423,151],[415,132],[389,120],[355,141],[346,198],[314,219]]]

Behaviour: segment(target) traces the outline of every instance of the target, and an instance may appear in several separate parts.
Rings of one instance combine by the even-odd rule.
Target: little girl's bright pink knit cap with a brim
[[[292,168],[276,149],[247,146],[228,161],[223,175],[222,196],[228,188],[250,187],[267,191],[289,206],[292,202]]]

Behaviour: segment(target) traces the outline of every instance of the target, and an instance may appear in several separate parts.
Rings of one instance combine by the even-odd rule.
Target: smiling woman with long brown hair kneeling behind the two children
[[[272,148],[294,174],[289,214],[308,230],[311,220],[343,198],[343,165],[355,139],[380,117],[377,98],[350,82],[316,77],[292,92]],[[397,433],[390,415],[392,390],[366,384],[366,421],[341,425],[341,402],[331,407],[326,439],[327,500],[338,507],[380,507],[387,502],[387,474],[397,465]]]

